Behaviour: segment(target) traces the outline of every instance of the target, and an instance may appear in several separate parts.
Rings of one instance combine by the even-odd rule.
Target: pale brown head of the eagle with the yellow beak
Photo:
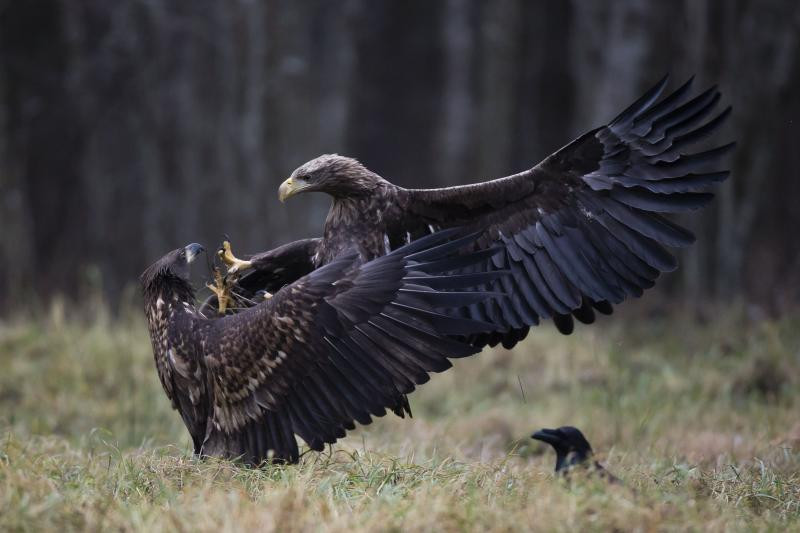
[[[286,201],[301,192],[324,192],[334,198],[369,193],[382,178],[352,157],[325,154],[304,163],[281,183],[278,198]]]

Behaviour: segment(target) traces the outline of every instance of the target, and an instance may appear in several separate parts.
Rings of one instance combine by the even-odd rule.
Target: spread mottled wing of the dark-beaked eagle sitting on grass
[[[458,289],[504,275],[438,275],[496,252],[450,257],[475,238],[445,242],[453,235],[440,232],[366,264],[341,257],[215,321],[220,349],[206,357],[213,412],[204,453],[296,461],[294,434],[321,450],[356,421],[369,424],[387,409],[410,413],[406,394],[449,368],[448,357],[477,351],[448,335],[493,328],[439,312],[483,301],[489,295]]]

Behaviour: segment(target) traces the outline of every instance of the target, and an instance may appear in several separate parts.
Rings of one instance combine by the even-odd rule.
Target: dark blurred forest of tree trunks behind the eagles
[[[404,186],[517,172],[667,72],[720,84],[739,147],[663,294],[792,305],[794,0],[0,0],[0,305],[115,302],[223,232],[318,235],[328,199],[277,187],[321,153]]]

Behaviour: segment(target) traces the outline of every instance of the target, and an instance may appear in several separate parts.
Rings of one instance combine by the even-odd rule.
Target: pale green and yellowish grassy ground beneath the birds
[[[0,323],[0,530],[800,530],[800,318],[629,311],[455,366],[248,470],[191,457],[138,311]],[[624,486],[554,479],[528,435],[564,424]]]

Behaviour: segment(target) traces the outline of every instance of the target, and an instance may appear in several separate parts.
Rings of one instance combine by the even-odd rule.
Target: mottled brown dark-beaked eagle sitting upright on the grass
[[[295,434],[322,450],[386,409],[411,414],[406,394],[448,357],[478,349],[454,336],[494,325],[448,316],[490,298],[461,290],[507,273],[441,275],[493,249],[454,252],[476,235],[444,230],[363,263],[345,253],[234,315],[195,310],[190,244],[141,276],[153,355],[164,391],[201,455],[296,462]]]

